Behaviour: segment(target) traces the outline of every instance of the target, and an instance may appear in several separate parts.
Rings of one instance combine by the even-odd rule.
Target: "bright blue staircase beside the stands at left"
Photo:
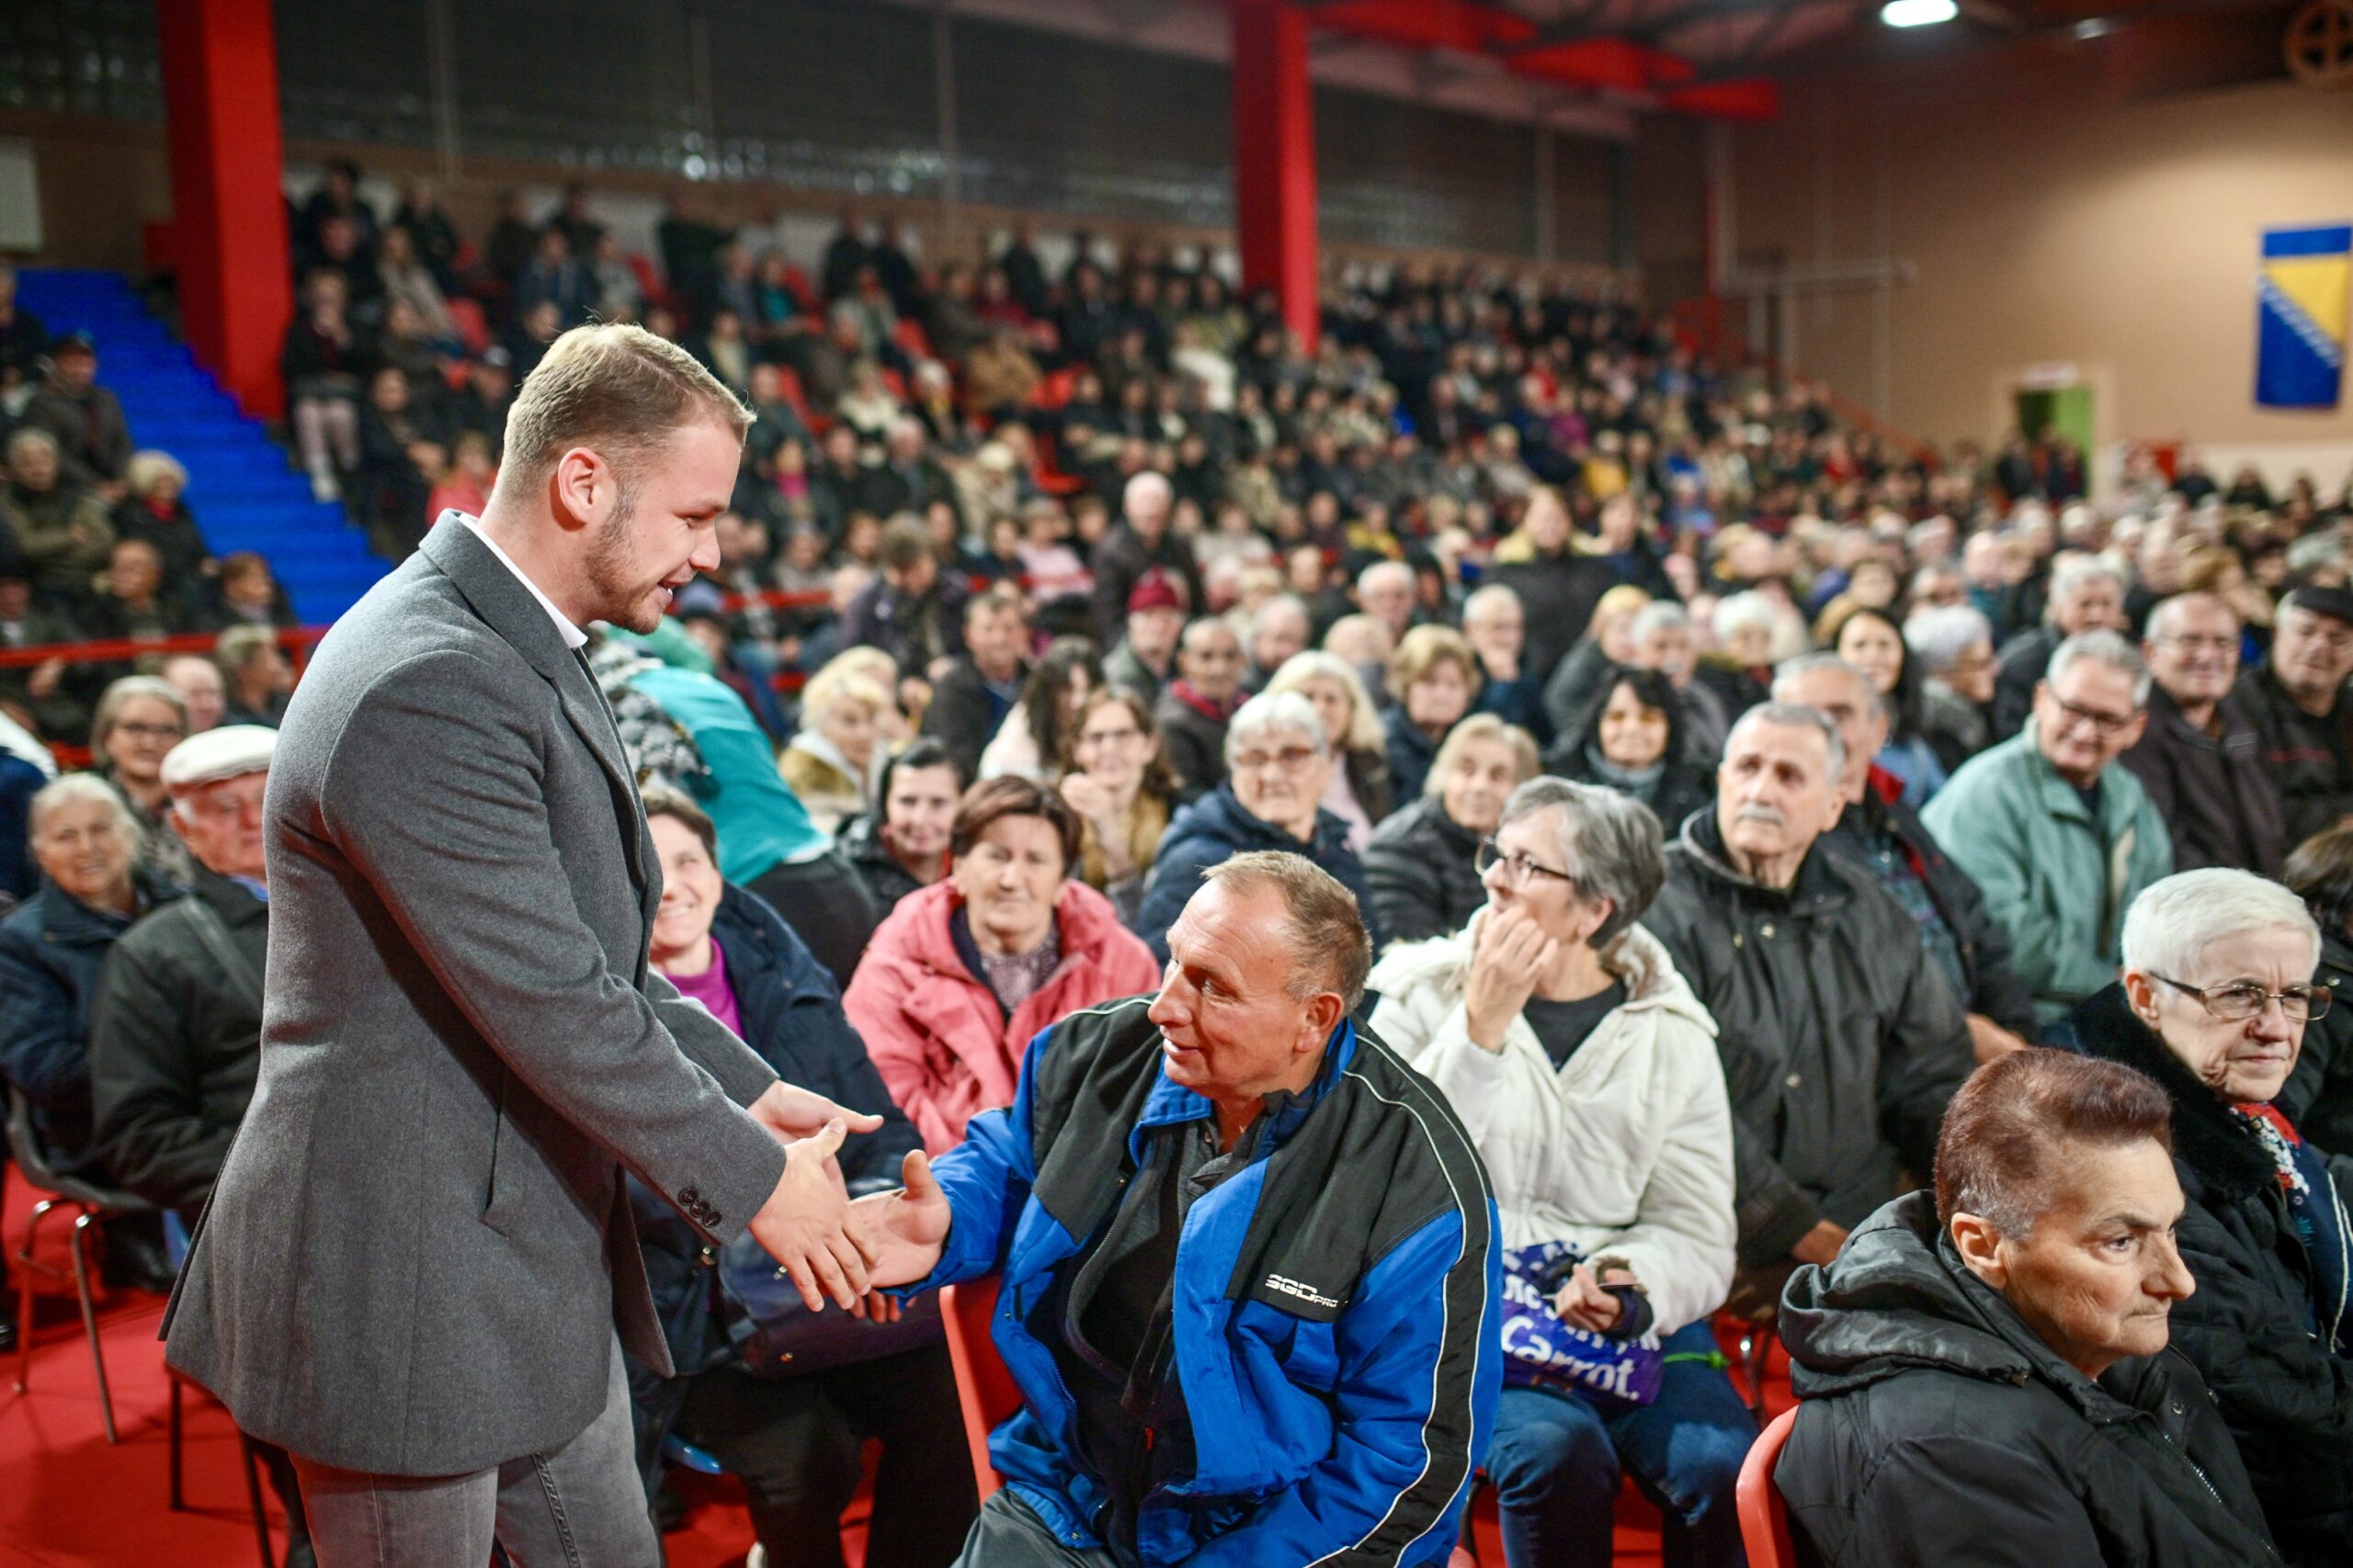
[[[49,334],[99,343],[99,386],[122,400],[132,440],[188,465],[188,508],[216,555],[256,550],[294,599],[304,625],[327,625],[384,576],[341,505],[311,498],[261,421],[238,411],[188,348],[120,273],[24,270],[16,299]]]

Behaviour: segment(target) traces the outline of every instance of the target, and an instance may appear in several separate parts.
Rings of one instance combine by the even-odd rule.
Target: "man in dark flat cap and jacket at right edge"
[[[2297,588],[2280,599],[2271,658],[2238,677],[2235,705],[2280,785],[2287,846],[2353,811],[2353,592]]]

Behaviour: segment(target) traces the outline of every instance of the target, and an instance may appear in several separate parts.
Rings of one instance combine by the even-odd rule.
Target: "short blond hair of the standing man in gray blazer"
[[[501,477],[536,484],[565,451],[588,447],[626,489],[664,440],[696,418],[727,423],[741,437],[753,411],[694,355],[645,327],[574,327],[506,411]]]

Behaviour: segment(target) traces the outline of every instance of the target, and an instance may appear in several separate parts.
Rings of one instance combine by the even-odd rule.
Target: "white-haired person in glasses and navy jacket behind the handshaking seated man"
[[[1334,766],[1332,741],[1306,696],[1261,691],[1242,703],[1226,724],[1226,783],[1176,813],[1144,886],[1132,929],[1155,959],[1167,964],[1169,926],[1200,891],[1200,875],[1252,849],[1285,849],[1332,872],[1355,893],[1372,950],[1381,950],[1365,863],[1348,849],[1348,825],[1320,804]]]

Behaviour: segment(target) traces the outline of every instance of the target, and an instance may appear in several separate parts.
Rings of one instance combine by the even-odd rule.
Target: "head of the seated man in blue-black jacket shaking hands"
[[[1339,1023],[1339,997],[1292,994],[1299,952],[1273,889],[1212,882],[1169,926],[1169,964],[1148,1018],[1169,1081],[1212,1100],[1294,1088]]]

